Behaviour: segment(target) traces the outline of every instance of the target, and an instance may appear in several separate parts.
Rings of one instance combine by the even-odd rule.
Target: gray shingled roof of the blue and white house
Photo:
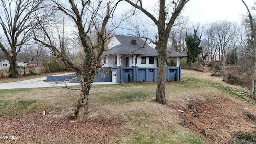
[[[134,54],[134,55],[143,55],[143,56],[157,56],[157,50],[150,47],[148,44],[142,40],[142,38],[134,36],[119,36],[114,35],[116,39],[121,43],[109,50],[103,52],[103,56],[112,55],[112,54]],[[136,40],[136,44],[132,44],[132,40]],[[181,54],[176,51],[167,52],[167,56],[176,56],[176,57],[188,57],[185,54]]]

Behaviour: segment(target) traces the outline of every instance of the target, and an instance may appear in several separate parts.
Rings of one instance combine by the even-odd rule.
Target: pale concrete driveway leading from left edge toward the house
[[[66,73],[66,74],[57,74],[54,76],[63,76],[68,75],[72,73]],[[46,80],[46,76],[42,78],[34,78],[31,80],[22,80],[18,82],[8,82],[8,83],[2,83],[0,84],[0,90],[6,90],[6,89],[14,89],[14,88],[44,88],[44,87],[59,87],[59,86],[79,86],[79,83],[56,83],[56,82],[43,82],[43,80]],[[93,84],[117,84],[115,82],[94,82]]]

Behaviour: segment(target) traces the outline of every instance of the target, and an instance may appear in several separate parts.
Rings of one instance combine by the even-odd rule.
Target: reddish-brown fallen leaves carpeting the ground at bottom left
[[[0,118],[0,143],[104,144],[120,125],[104,119],[71,122],[68,116],[52,118],[37,112]],[[10,137],[11,136],[11,137]],[[14,136],[14,137],[12,137]]]

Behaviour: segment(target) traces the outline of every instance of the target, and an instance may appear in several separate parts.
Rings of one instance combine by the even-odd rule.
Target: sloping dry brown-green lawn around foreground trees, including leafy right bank
[[[111,132],[104,135],[102,141],[94,138],[93,141],[74,140],[78,143],[109,144],[215,144],[230,142],[237,132],[252,133],[256,129],[256,124],[244,114],[250,112],[256,115],[254,101],[246,96],[249,91],[240,86],[231,86],[223,82],[222,78],[209,75],[209,73],[182,70],[182,79],[185,82],[166,83],[166,105],[154,101],[155,83],[94,85],[90,91],[87,118],[84,122],[97,122],[103,126],[113,126],[113,129],[112,131],[108,129]],[[245,94],[241,94],[240,91]],[[79,96],[79,91],[63,88],[0,90],[0,92],[2,94],[0,100],[10,102],[10,106],[8,105],[10,109],[12,104],[20,100],[36,100],[35,107],[26,107],[26,111],[22,111],[22,114],[34,112],[40,115],[45,110],[46,115],[51,116],[49,120],[57,122],[56,127],[53,128],[56,131],[59,130],[57,126],[59,120],[74,112],[74,101]],[[188,103],[197,106],[198,117],[187,108]],[[5,107],[2,109],[6,110]],[[177,109],[184,110],[184,113],[178,112]],[[4,114],[2,117],[16,117],[17,113],[13,112],[13,114]],[[86,125],[84,122],[79,124]],[[70,126],[68,121],[64,123]],[[100,128],[105,132],[104,127]],[[71,130],[71,133],[73,134],[75,130]],[[203,130],[207,133],[207,137],[202,133]],[[61,130],[58,134],[62,134]],[[70,142],[61,137],[56,140],[47,138],[43,140],[50,143]]]

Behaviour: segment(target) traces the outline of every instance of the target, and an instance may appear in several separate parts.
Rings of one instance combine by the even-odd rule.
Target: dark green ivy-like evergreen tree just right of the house
[[[185,41],[188,48],[187,55],[187,63],[191,66],[192,63],[196,62],[196,58],[199,56],[200,52],[202,51],[202,47],[199,46],[201,43],[201,36],[200,38],[196,34],[197,30],[194,29],[194,35],[189,36],[186,33]]]

